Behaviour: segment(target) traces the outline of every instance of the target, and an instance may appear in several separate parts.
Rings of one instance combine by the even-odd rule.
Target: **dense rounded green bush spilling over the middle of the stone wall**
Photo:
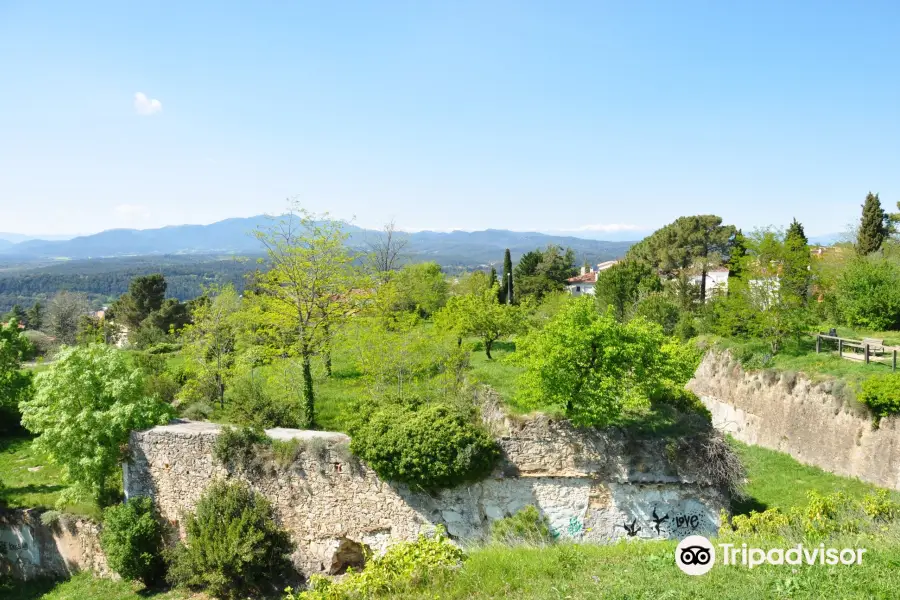
[[[425,490],[486,476],[499,457],[494,441],[457,410],[435,403],[418,410],[377,409],[355,428],[350,449],[383,479]]]

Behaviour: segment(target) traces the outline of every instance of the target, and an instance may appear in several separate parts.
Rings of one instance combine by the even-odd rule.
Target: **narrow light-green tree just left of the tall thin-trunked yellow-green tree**
[[[224,407],[226,383],[235,366],[241,299],[230,285],[208,293],[212,299],[196,305],[194,322],[182,330],[188,380],[181,396],[191,401],[215,400]]]

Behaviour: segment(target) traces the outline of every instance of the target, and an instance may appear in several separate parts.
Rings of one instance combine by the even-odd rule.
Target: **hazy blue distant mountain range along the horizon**
[[[210,225],[176,225],[160,229],[111,229],[94,235],[67,240],[30,239],[13,243],[0,241],[0,259],[17,260],[89,259],[119,256],[164,254],[238,254],[256,255],[263,247],[252,231],[266,227],[271,220],[263,215],[226,219]],[[349,243],[365,248],[379,232],[348,225]],[[0,234],[3,238],[6,234]],[[518,232],[505,229],[419,231],[404,234],[408,244],[404,253],[412,260],[434,260],[445,266],[476,266],[499,263],[509,248],[513,260],[523,253],[547,244],[571,248],[578,262],[596,263],[622,256],[633,241],[584,239],[565,235]]]

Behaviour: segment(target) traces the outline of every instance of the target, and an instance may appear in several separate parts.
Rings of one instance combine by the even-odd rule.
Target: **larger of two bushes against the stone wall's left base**
[[[243,483],[213,483],[185,523],[168,580],[222,598],[272,593],[292,573],[290,536],[269,502]]]

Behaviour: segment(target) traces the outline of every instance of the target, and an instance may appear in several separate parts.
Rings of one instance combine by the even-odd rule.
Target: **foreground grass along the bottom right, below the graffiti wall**
[[[717,566],[702,577],[681,573],[673,542],[614,546],[487,548],[455,574],[392,598],[447,600],[588,599],[758,600],[896,598],[900,548],[869,547],[859,566]]]

